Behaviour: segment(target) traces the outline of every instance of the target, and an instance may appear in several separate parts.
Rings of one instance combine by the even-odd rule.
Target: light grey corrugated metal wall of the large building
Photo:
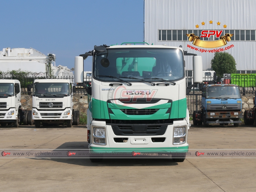
[[[203,58],[203,70],[211,68],[214,53],[200,53],[188,48],[189,41],[158,41],[158,30],[229,30],[256,29],[255,0],[145,0],[145,42],[154,45],[182,45],[184,50]],[[212,20],[213,24],[209,21]],[[217,25],[217,22],[221,25]],[[201,23],[205,22],[202,26]],[[199,28],[196,28],[196,25]],[[256,41],[230,41],[226,50],[237,63],[237,70],[255,70]],[[197,46],[194,46],[197,47]],[[197,47],[200,49],[200,47]],[[202,48],[211,50],[207,48]],[[192,70],[192,58],[186,58],[186,70]]]

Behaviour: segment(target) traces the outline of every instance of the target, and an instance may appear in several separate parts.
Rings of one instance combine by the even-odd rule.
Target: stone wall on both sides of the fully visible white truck
[[[22,109],[32,110],[32,96],[22,95],[20,102],[22,103]],[[78,109],[80,113],[86,113],[88,109],[88,97],[87,95],[74,95],[73,97],[74,106],[73,109]]]

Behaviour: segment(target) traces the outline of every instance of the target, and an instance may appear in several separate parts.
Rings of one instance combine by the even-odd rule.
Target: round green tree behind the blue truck
[[[212,69],[218,77],[223,77],[224,73],[237,73],[236,61],[227,52],[216,52],[211,61]]]

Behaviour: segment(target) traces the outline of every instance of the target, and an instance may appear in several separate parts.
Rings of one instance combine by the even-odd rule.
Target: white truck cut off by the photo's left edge
[[[20,82],[15,79],[0,79],[0,124],[13,123],[19,127],[22,117]]]

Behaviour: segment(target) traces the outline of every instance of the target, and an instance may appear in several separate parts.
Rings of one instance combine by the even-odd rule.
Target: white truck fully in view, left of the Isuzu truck
[[[73,110],[71,79],[35,79],[32,93],[32,119],[36,128],[49,124],[79,124],[79,110]]]

